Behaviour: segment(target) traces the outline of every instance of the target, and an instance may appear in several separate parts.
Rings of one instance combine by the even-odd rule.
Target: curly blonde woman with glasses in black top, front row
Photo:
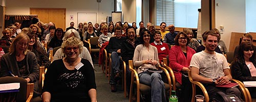
[[[79,57],[83,43],[74,36],[61,49],[67,56],[54,61],[45,75],[43,101],[95,101],[96,83],[93,66]]]

